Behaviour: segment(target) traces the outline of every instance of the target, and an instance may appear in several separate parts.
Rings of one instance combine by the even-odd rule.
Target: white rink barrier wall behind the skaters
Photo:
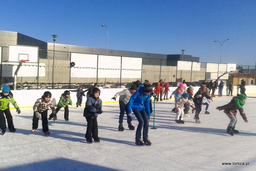
[[[171,93],[176,89],[177,87],[169,87],[170,92],[168,94],[168,97],[170,97]],[[200,87],[194,87],[194,94],[198,91],[198,89]],[[246,91],[245,93],[247,95],[250,94],[256,94],[256,86],[245,86]],[[227,95],[228,93],[228,87],[224,87],[223,91],[222,91],[222,95]],[[24,107],[33,107],[35,104],[35,101],[37,101],[38,98],[41,98],[42,95],[44,94],[45,91],[50,91],[52,93],[52,102],[53,104],[58,104],[59,102],[59,98],[61,97],[61,94],[64,93],[66,89],[43,89],[43,90],[12,90],[12,93],[14,94],[14,99],[17,102],[18,106],[20,108],[24,108]],[[105,89],[101,89],[101,95],[99,96],[102,100],[103,103],[115,103],[118,102],[119,97],[116,99],[116,101],[114,101],[113,99],[111,99],[112,97],[114,97],[114,95],[119,92],[122,91],[123,88],[105,88]],[[86,95],[87,92],[85,92]],[[233,96],[236,95],[237,93],[240,93],[240,89],[238,89],[238,87],[234,86],[234,90],[233,90]],[[218,89],[215,91],[215,95],[218,95]],[[76,92],[70,92],[70,97],[71,100],[73,102],[73,106],[76,105]],[[174,97],[173,97],[174,98]],[[86,97],[83,97],[82,100],[82,104],[84,105],[86,101]],[[10,104],[11,109],[14,109],[14,106],[12,106],[12,104]]]

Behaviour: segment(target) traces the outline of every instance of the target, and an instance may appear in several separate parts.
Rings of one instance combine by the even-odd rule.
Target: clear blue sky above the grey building
[[[2,0],[0,30],[56,43],[255,65],[255,0]],[[213,41],[219,42],[213,42]]]

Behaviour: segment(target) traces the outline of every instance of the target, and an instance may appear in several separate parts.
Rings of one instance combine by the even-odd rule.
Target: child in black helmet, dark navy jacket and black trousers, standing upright
[[[91,89],[91,94],[86,100],[85,108],[84,108],[84,117],[87,121],[87,129],[85,133],[85,138],[88,143],[92,143],[93,137],[95,142],[100,142],[98,136],[98,122],[97,117],[98,114],[103,113],[102,108],[102,100],[99,98],[101,95],[101,90],[99,88],[94,87]]]

